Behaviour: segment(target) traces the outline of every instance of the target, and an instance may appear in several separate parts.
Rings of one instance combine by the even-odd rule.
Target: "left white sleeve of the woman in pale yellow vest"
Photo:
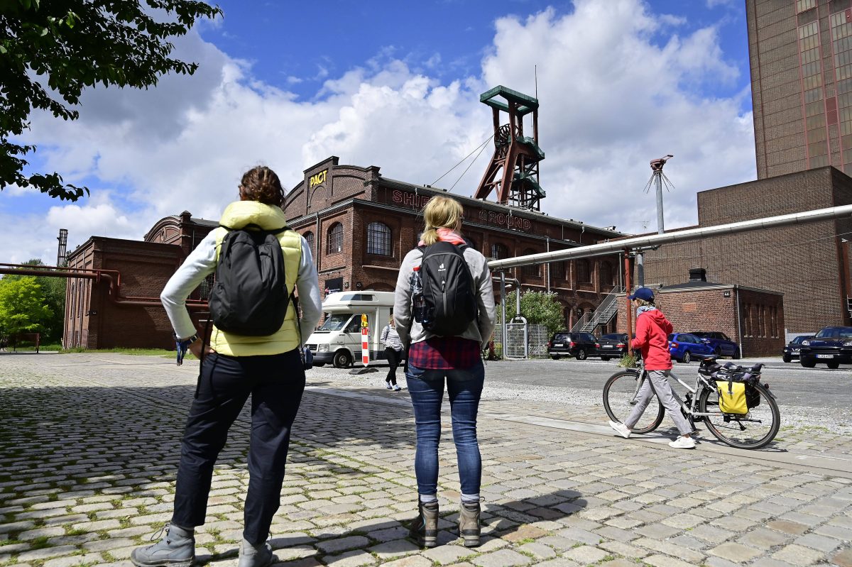
[[[197,332],[193,319],[187,312],[187,297],[199,287],[204,278],[216,272],[216,231],[210,231],[204,240],[187,256],[177,272],[160,294],[172,329],[179,339],[186,339]]]

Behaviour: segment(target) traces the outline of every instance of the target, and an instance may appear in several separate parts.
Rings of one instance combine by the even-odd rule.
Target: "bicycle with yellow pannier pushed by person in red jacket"
[[[695,375],[695,386],[690,387],[674,373],[670,376],[685,387],[686,401],[677,392],[675,399],[681,406],[683,415],[695,431],[695,423],[703,422],[707,429],[724,444],[738,449],[760,449],[769,444],[780,427],[780,411],[774,394],[769,392],[769,384],[760,382],[763,364],[754,364],[751,368],[733,363],[720,365],[717,357],[701,359]],[[730,414],[719,409],[719,391],[716,381],[746,382],[746,400],[748,413]],[[636,394],[647,373],[640,361],[637,369],[624,369],[607,379],[603,386],[603,407],[613,421],[623,422],[630,410],[636,405]],[[657,411],[653,411],[653,401],[642,417],[636,422],[632,432],[642,434],[652,432],[659,427],[665,416],[663,404],[657,399]]]

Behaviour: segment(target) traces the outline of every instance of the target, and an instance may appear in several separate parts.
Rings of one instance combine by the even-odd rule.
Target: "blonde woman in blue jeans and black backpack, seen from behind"
[[[462,492],[458,530],[464,545],[472,547],[480,543],[482,461],[476,414],[485,381],[480,352],[496,317],[492,278],[485,256],[460,234],[463,208],[458,201],[429,199],[423,221],[423,239],[402,261],[394,299],[396,330],[409,347],[406,381],[417,430],[419,513],[411,536],[423,547],[437,545],[440,405],[446,381]],[[436,293],[445,294],[448,311],[442,310]]]

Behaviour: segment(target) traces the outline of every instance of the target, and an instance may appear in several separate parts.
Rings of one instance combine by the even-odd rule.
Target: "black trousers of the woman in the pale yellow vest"
[[[298,350],[256,357],[204,357],[198,395],[187,418],[177,471],[172,523],[204,524],[216,457],[227,431],[251,396],[249,490],[243,537],[257,545],[269,535],[280,505],[290,430],[302,402],[305,371]]]

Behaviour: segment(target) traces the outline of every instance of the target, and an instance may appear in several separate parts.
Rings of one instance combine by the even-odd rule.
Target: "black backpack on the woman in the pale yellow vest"
[[[258,230],[246,230],[255,227]],[[247,225],[227,229],[219,250],[216,283],[210,291],[210,318],[220,330],[235,335],[272,335],[290,306],[284,254],[278,234]]]

